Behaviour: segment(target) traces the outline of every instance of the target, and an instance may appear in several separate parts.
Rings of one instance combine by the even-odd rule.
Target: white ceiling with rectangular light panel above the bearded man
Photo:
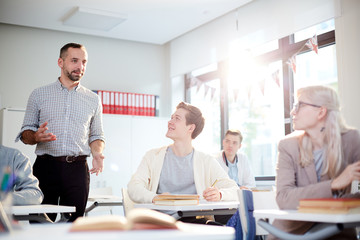
[[[0,22],[144,43],[164,44],[253,0],[0,0]],[[110,30],[65,25],[77,7],[125,21]],[[79,23],[80,20],[76,20]]]

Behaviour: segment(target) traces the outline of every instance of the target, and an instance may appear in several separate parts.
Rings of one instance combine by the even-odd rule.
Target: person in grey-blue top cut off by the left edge
[[[8,190],[13,192],[14,205],[32,205],[42,202],[44,195],[39,188],[38,179],[32,173],[28,157],[17,149],[0,144],[0,169],[1,179],[6,171],[16,176],[13,184],[8,186]],[[1,187],[5,188],[5,186]]]

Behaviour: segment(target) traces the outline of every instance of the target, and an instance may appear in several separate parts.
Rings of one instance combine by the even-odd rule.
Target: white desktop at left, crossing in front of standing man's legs
[[[14,215],[28,215],[36,213],[67,213],[75,212],[75,210],[75,207],[50,204],[23,205],[11,207],[11,211]]]

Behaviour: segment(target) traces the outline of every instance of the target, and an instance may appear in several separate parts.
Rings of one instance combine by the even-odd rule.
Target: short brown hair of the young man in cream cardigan
[[[186,125],[195,124],[195,130],[191,134],[191,138],[195,139],[203,130],[205,125],[205,118],[199,108],[185,102],[181,102],[176,106],[176,109],[183,108],[187,110],[185,115]]]

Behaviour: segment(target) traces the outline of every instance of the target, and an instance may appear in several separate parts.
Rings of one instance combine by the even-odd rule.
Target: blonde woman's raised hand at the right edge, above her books
[[[349,186],[352,181],[360,180],[360,161],[348,165],[331,183],[331,190],[340,190]]]

